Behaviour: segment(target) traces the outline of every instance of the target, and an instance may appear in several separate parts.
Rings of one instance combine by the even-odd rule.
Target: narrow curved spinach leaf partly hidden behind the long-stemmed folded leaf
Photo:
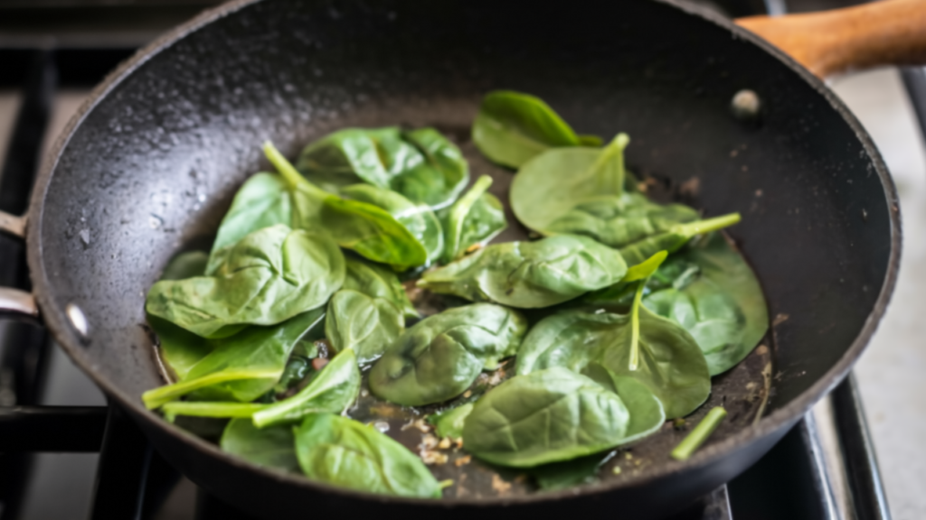
[[[352,201],[375,205],[393,216],[415,237],[427,253],[431,263],[444,252],[444,233],[441,222],[430,207],[412,204],[399,193],[369,184],[354,184],[341,190]]]

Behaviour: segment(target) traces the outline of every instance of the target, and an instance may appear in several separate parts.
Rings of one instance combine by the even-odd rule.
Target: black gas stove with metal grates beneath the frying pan
[[[44,150],[108,70],[211,3],[0,6],[0,210],[25,211]],[[784,7],[713,6],[734,16]],[[926,134],[926,75],[910,68],[903,79]],[[24,245],[6,236],[0,286],[29,290]],[[161,459],[37,325],[0,322],[0,451],[0,520],[248,518]],[[743,476],[671,520],[733,518],[890,518],[854,377]]]

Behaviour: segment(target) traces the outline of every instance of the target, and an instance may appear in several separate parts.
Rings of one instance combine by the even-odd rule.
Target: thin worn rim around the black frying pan
[[[852,365],[856,363],[858,357],[868,346],[871,337],[877,330],[882,316],[884,315],[887,305],[890,303],[891,297],[895,290],[902,249],[902,231],[900,207],[894,181],[892,180],[887,167],[883,162],[882,156],[878,152],[874,142],[872,142],[868,132],[862,127],[855,115],[849,111],[842,100],[840,100],[838,96],[835,95],[835,93],[832,93],[832,91],[823,83],[822,80],[811,74],[806,68],[803,68],[791,56],[785,55],[781,50],[762,40],[757,35],[746,31],[743,28],[740,28],[739,26],[735,25],[732,20],[725,19],[719,14],[710,11],[705,7],[694,6],[687,3],[685,0],[656,0],[660,4],[677,8],[693,18],[703,19],[709,23],[713,23],[714,25],[719,26],[720,29],[730,31],[733,38],[744,40],[745,42],[756,45],[761,50],[777,58],[785,67],[789,68],[801,79],[805,80],[811,88],[820,93],[823,98],[829,102],[832,108],[849,125],[850,129],[856,133],[858,141],[861,142],[866,154],[870,157],[878,177],[882,182],[884,196],[889,207],[891,231],[891,252],[888,258],[882,287],[878,298],[870,312],[870,315],[866,319],[864,326],[858,332],[856,339],[852,341],[851,345],[845,351],[842,357],[834,365],[832,365],[832,367],[827,370],[821,378],[813,383],[807,390],[804,390],[799,395],[797,395],[791,402],[788,402],[782,406],[782,408],[771,412],[769,415],[761,417],[756,423],[733,433],[729,437],[720,440],[720,442],[708,445],[698,452],[695,452],[694,456],[688,461],[678,462],[674,460],[668,460],[665,464],[659,464],[656,469],[651,472],[647,472],[639,478],[630,478],[627,480],[608,482],[607,484],[583,487],[579,489],[564,489],[559,491],[539,493],[536,495],[510,498],[446,498],[435,501],[432,499],[414,499],[377,495],[363,491],[338,488],[328,484],[309,480],[306,477],[298,475],[287,475],[282,472],[270,470],[258,466],[257,464],[244,461],[243,459],[233,457],[226,452],[222,452],[219,449],[219,446],[195,437],[194,435],[182,430],[181,428],[169,424],[159,415],[156,415],[154,412],[145,409],[141,402],[135,402],[131,399],[130,396],[125,394],[116,385],[110,383],[106,378],[103,378],[100,374],[96,373],[94,367],[85,361],[79,354],[79,352],[82,350],[81,339],[76,331],[74,331],[74,329],[69,326],[69,322],[65,313],[65,305],[56,303],[55,299],[51,296],[53,286],[47,279],[47,273],[44,270],[44,254],[41,242],[41,229],[44,217],[45,196],[53,178],[53,174],[56,170],[61,152],[67,147],[74,132],[80,129],[82,121],[94,109],[94,107],[100,103],[101,100],[106,98],[107,93],[110,93],[112,90],[118,87],[122,81],[126,80],[135,70],[144,66],[144,64],[149,59],[152,59],[154,56],[159,55],[161,52],[167,50],[175,43],[178,43],[188,34],[199,31],[213,21],[230,16],[246,6],[256,5],[264,1],[267,0],[232,0],[231,2],[221,6],[206,10],[200,15],[196,16],[194,19],[191,19],[186,23],[178,26],[174,30],[165,33],[161,37],[157,38],[156,41],[145,45],[142,49],[131,56],[131,58],[120,64],[119,68],[107,75],[106,79],[94,88],[93,92],[81,105],[77,113],[72,118],[70,118],[65,129],[62,130],[61,134],[56,137],[54,145],[44,156],[42,167],[40,168],[39,175],[37,176],[35,182],[35,188],[32,191],[30,206],[27,214],[28,226],[26,229],[26,241],[30,276],[33,286],[33,293],[37,303],[39,304],[39,307],[42,310],[42,316],[46,326],[52,331],[55,339],[68,354],[70,359],[76,365],[80,366],[81,370],[90,378],[92,378],[94,383],[102,390],[104,390],[108,397],[115,399],[117,402],[119,402],[120,406],[128,409],[128,411],[131,412],[131,415],[144,416],[146,419],[149,419],[150,423],[154,427],[160,428],[164,433],[168,434],[175,440],[191,443],[193,447],[199,452],[204,452],[208,456],[216,457],[221,460],[223,464],[232,464],[238,467],[243,467],[250,471],[255,471],[261,474],[262,477],[277,480],[281,484],[285,483],[289,486],[315,489],[325,493],[336,493],[338,495],[342,495],[344,498],[353,498],[361,501],[406,503],[408,505],[436,506],[444,508],[453,506],[482,508],[500,505],[517,505],[519,503],[558,501],[567,498],[588,497],[608,493],[617,489],[628,489],[642,486],[649,482],[669,477],[684,467],[706,466],[708,464],[716,463],[723,457],[732,454],[732,452],[741,450],[746,446],[756,442],[757,440],[770,436],[774,432],[779,431],[782,427],[794,424],[797,420],[800,419],[801,416],[807,413],[807,411],[814,403],[818,402],[825,394],[829,393],[843,380],[843,378],[845,378],[849,370],[852,368]]]

